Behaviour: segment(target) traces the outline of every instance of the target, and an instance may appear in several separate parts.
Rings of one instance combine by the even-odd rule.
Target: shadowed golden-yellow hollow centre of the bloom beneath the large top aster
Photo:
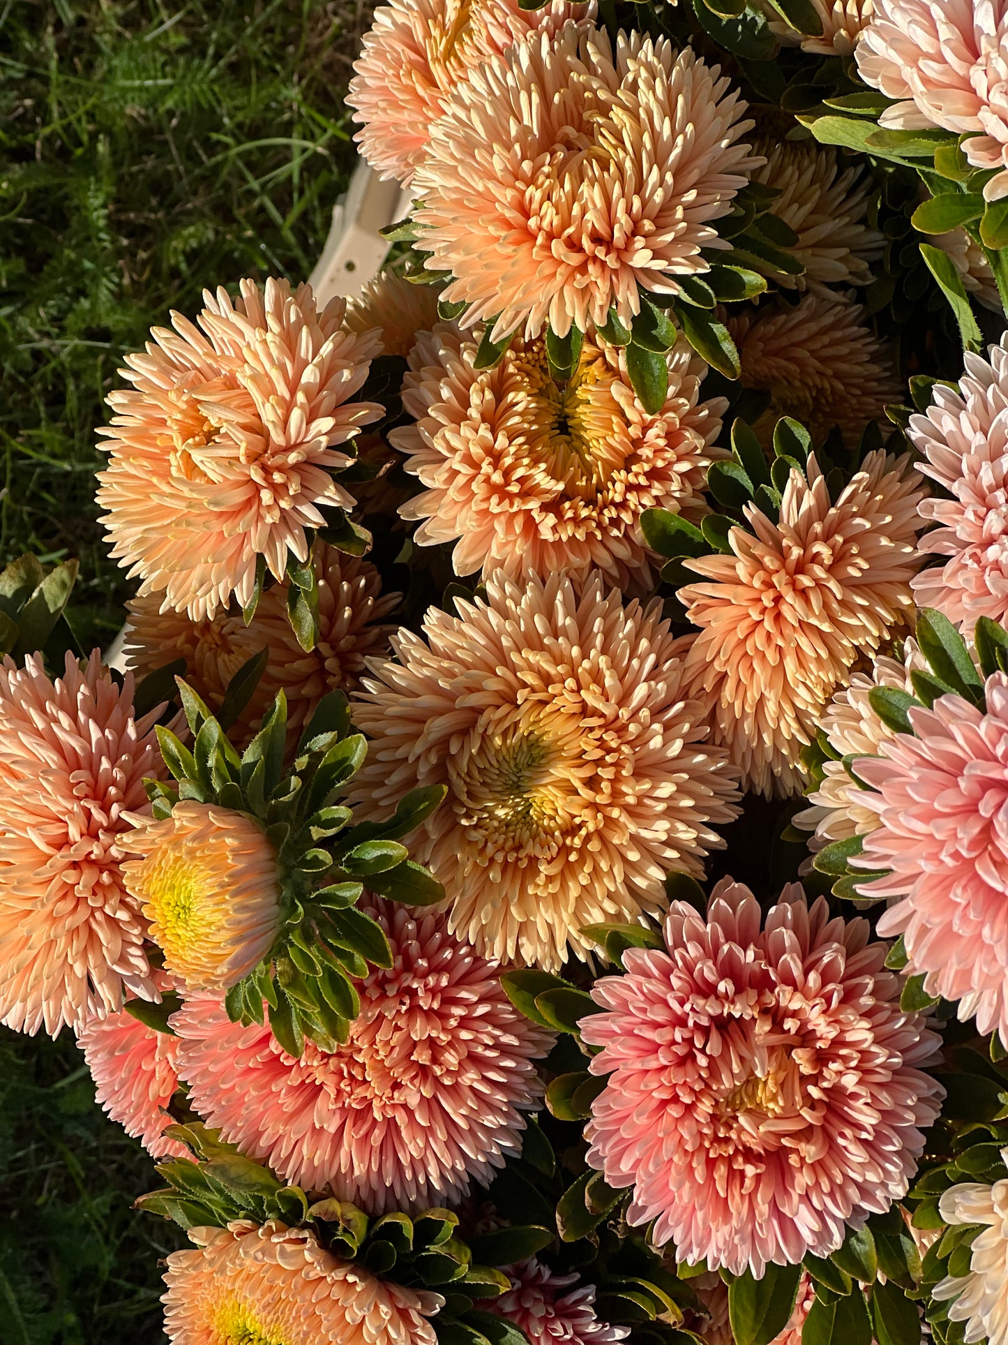
[[[550,375],[546,342],[539,339],[516,350],[509,373],[523,406],[530,455],[569,495],[594,499],[624,465],[620,438],[613,433],[621,412],[610,390],[613,373],[601,351],[586,342],[578,367],[558,385]]]

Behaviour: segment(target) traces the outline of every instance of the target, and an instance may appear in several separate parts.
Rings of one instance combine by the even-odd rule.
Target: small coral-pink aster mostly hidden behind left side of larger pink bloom
[[[155,985],[160,991],[173,986],[161,972]],[[91,1072],[95,1099],[109,1116],[152,1158],[188,1158],[188,1149],[164,1134],[173,1122],[167,1108],[179,1087],[179,1038],[122,1010],[108,1018],[89,1018],[77,1033],[77,1044]]]

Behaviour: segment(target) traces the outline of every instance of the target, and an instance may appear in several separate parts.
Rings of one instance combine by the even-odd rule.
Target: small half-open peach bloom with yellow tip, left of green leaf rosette
[[[190,990],[227,990],[270,951],[280,928],[273,846],[254,818],[183,799],[129,838],[122,866],[164,964]]]

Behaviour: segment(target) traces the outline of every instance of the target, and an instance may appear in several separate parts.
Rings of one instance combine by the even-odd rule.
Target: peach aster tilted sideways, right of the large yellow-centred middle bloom
[[[833,503],[812,455],[805,476],[792,472],[778,522],[746,506],[753,531],[731,529],[731,554],[685,562],[704,581],[679,590],[700,627],[687,686],[707,698],[714,741],[750,790],[802,787],[801,749],[829,697],[859,655],[910,621],[919,499],[910,457],[878,449]]]

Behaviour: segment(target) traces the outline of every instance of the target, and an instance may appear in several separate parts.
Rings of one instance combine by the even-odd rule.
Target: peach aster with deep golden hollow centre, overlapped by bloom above
[[[637,399],[626,355],[585,342],[563,386],[543,338],[516,338],[492,370],[454,324],[421,335],[392,430],[407,471],[427,487],[399,508],[423,519],[414,542],[458,545],[456,573],[520,564],[538,574],[595,566],[625,586],[652,586],[640,529],[645,508],[703,511],[707,467],[724,456],[723,398],[699,401],[703,360],[680,339],[665,355],[668,393],[656,416]]]

